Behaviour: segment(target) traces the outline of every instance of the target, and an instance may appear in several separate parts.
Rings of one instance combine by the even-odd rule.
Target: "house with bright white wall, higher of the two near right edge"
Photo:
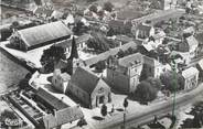
[[[178,47],[180,52],[190,52],[190,56],[194,57],[196,55],[197,46],[199,42],[193,35],[191,35],[180,42]]]

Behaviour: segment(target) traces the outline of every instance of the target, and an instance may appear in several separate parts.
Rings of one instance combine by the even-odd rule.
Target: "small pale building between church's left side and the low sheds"
[[[52,85],[55,89],[65,94],[71,76],[67,73],[61,73],[61,69],[54,69]]]

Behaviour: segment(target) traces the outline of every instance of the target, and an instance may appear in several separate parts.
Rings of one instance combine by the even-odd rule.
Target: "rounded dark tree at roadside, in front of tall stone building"
[[[149,82],[142,80],[138,84],[137,89],[133,93],[133,97],[139,101],[151,101],[157,98],[158,90],[150,85]]]

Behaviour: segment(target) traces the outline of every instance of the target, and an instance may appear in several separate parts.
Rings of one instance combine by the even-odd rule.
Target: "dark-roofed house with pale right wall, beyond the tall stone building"
[[[146,23],[138,24],[137,26],[133,26],[132,30],[135,30],[132,31],[132,33],[135,34],[136,39],[141,40],[149,39],[150,36],[153,36],[156,33],[154,28]]]

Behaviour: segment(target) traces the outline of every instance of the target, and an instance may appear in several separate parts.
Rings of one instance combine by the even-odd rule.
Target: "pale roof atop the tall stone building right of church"
[[[131,54],[122,58],[119,58],[118,63],[124,67],[128,67],[130,65],[137,65],[142,63],[142,57],[143,57],[142,54],[136,53],[136,54]]]

